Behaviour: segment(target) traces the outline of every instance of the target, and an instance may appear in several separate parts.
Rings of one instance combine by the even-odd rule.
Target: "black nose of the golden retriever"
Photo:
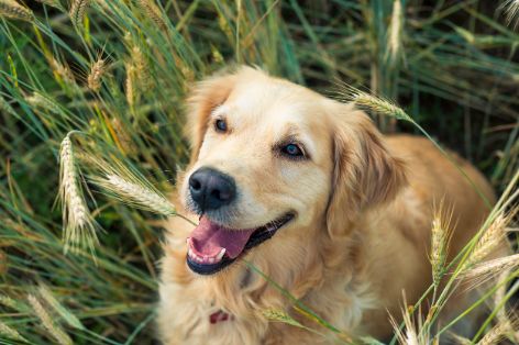
[[[189,178],[189,191],[200,210],[216,210],[236,196],[234,179],[212,168],[200,168]]]

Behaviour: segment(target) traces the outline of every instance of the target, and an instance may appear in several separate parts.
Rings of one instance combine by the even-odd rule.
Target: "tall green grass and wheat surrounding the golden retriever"
[[[151,343],[162,230],[150,211],[175,212],[158,191],[170,190],[176,167],[188,159],[181,127],[189,86],[232,64],[256,64],[327,94],[330,80],[367,88],[382,99],[355,94],[365,97],[362,105],[384,132],[427,133],[470,158],[504,198],[459,257],[455,276],[505,265],[470,263],[479,237],[517,199],[517,5],[507,2],[506,13],[498,7],[479,0],[0,0],[1,342]],[[74,242],[62,238],[55,196],[70,131],[81,134],[70,140],[75,162],[63,160],[62,151],[62,176],[71,178],[62,190],[104,230],[71,227],[98,238],[90,236],[96,260],[79,246],[86,241],[64,253]],[[103,162],[128,170],[103,170]],[[144,178],[150,182],[137,183]],[[112,198],[129,193],[142,196],[130,201],[145,210]],[[509,234],[517,248],[517,233]],[[517,263],[509,261],[487,300],[517,279]],[[437,279],[445,269],[439,267]],[[455,277],[450,281],[456,285]],[[433,312],[451,291],[435,291]],[[505,291],[490,315],[496,320],[512,296]],[[266,314],[294,323],[284,311]],[[433,316],[426,315],[417,338],[449,333],[452,324],[430,329]],[[316,320],[313,332],[327,327]],[[489,319],[473,341],[492,330]]]

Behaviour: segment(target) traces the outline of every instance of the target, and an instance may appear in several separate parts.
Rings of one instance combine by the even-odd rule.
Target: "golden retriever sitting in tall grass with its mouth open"
[[[167,225],[158,313],[167,345],[331,342],[269,323],[262,311],[274,309],[319,327],[249,265],[341,331],[388,337],[402,291],[413,303],[431,283],[434,203],[452,207],[451,254],[489,212],[429,141],[383,137],[352,104],[261,70],[201,81],[188,103],[179,212],[199,225]],[[494,202],[485,178],[455,159]],[[450,310],[468,299],[460,293]]]

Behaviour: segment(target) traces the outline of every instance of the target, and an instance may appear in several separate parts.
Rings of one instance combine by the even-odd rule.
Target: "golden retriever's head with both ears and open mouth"
[[[363,112],[249,67],[195,87],[188,130],[180,194],[200,215],[187,241],[198,274],[249,252],[295,263],[405,181]]]

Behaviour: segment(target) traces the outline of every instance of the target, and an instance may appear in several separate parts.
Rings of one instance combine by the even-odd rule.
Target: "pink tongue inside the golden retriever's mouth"
[[[214,256],[225,248],[227,256],[235,258],[243,252],[255,229],[231,230],[212,223],[207,216],[191,232],[194,249],[200,255]]]

